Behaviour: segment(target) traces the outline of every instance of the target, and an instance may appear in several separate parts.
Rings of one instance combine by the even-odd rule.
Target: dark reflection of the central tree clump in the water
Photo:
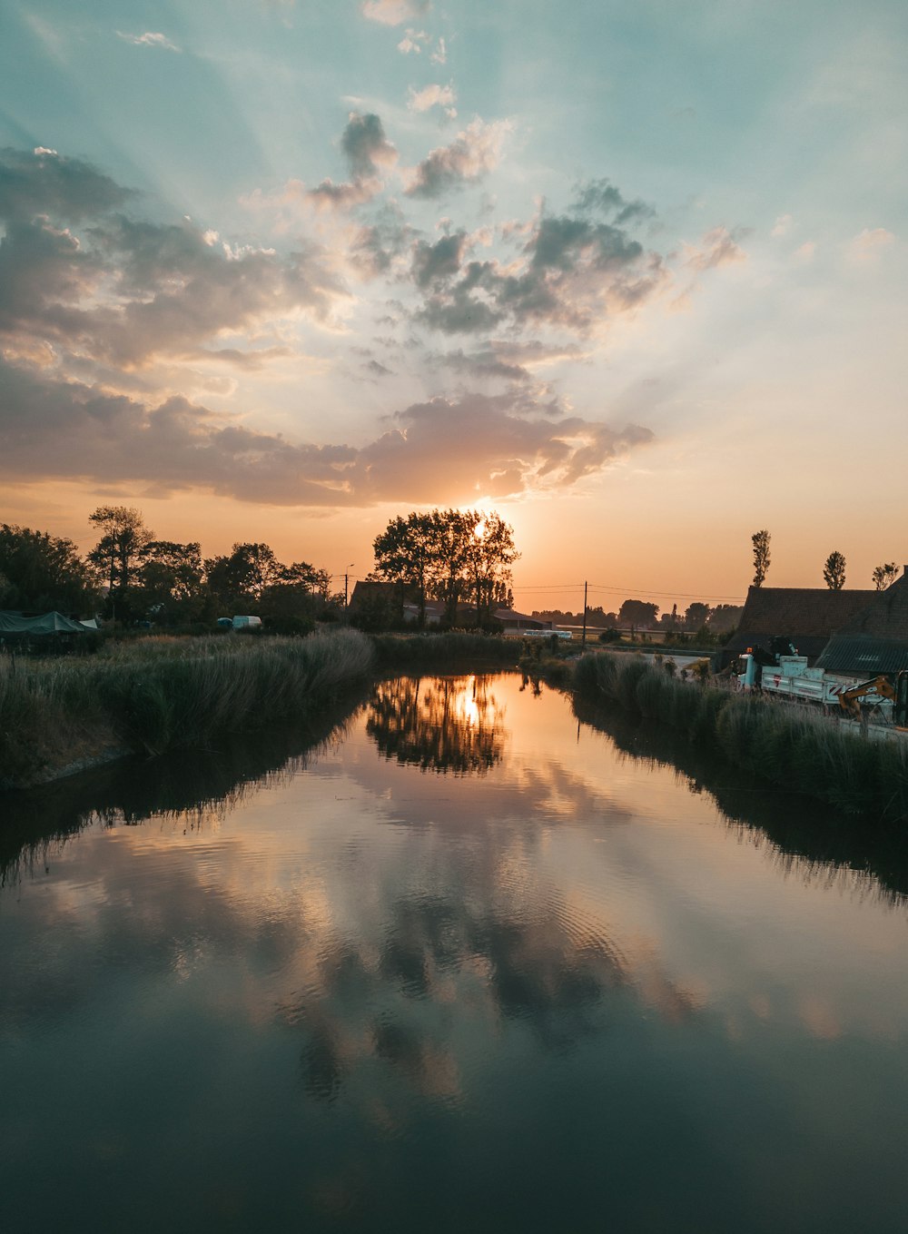
[[[487,771],[505,750],[493,677],[400,677],[373,691],[366,732],[386,759],[423,771]]]

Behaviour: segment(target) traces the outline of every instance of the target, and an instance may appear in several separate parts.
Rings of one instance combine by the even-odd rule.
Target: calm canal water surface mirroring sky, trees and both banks
[[[402,680],[10,806],[2,1228],[904,1229],[903,842],[590,719]]]

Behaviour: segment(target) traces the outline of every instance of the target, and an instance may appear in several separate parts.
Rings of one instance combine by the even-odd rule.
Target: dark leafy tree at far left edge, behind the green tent
[[[0,608],[94,613],[91,570],[69,539],[0,524]]]

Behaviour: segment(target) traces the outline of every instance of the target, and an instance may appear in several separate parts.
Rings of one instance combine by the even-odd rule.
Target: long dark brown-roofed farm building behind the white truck
[[[748,648],[770,652],[770,642],[778,638],[790,639],[798,655],[814,664],[832,636],[880,595],[828,587],[749,587],[738,631],[722,653],[723,666]]]

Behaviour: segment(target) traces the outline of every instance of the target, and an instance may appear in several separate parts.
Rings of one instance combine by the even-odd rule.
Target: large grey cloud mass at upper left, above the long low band
[[[128,196],[84,163],[0,157],[5,343],[41,339],[128,368],[283,316],[324,321],[345,294],[315,247],[279,257],[188,220],[131,218],[116,209]]]

